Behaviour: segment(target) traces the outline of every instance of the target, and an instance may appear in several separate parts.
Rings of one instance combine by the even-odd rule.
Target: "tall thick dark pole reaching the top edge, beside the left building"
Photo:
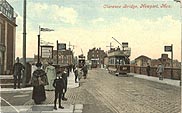
[[[25,71],[23,74],[22,87],[26,87],[26,0],[23,2],[23,65],[25,66]]]

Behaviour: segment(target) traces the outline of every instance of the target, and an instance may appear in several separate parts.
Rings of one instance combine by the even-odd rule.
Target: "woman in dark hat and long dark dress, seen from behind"
[[[48,84],[47,75],[43,69],[42,64],[36,64],[37,69],[33,72],[31,84],[33,86],[32,99],[35,104],[40,104],[46,100],[46,93],[44,86]]]

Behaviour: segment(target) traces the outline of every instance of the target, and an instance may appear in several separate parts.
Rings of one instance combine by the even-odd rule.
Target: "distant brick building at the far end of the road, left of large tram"
[[[107,54],[104,52],[104,50],[101,50],[101,48],[93,48],[89,49],[87,54],[87,59],[92,61],[92,67],[101,66],[101,64],[104,64],[104,58],[107,56]]]

